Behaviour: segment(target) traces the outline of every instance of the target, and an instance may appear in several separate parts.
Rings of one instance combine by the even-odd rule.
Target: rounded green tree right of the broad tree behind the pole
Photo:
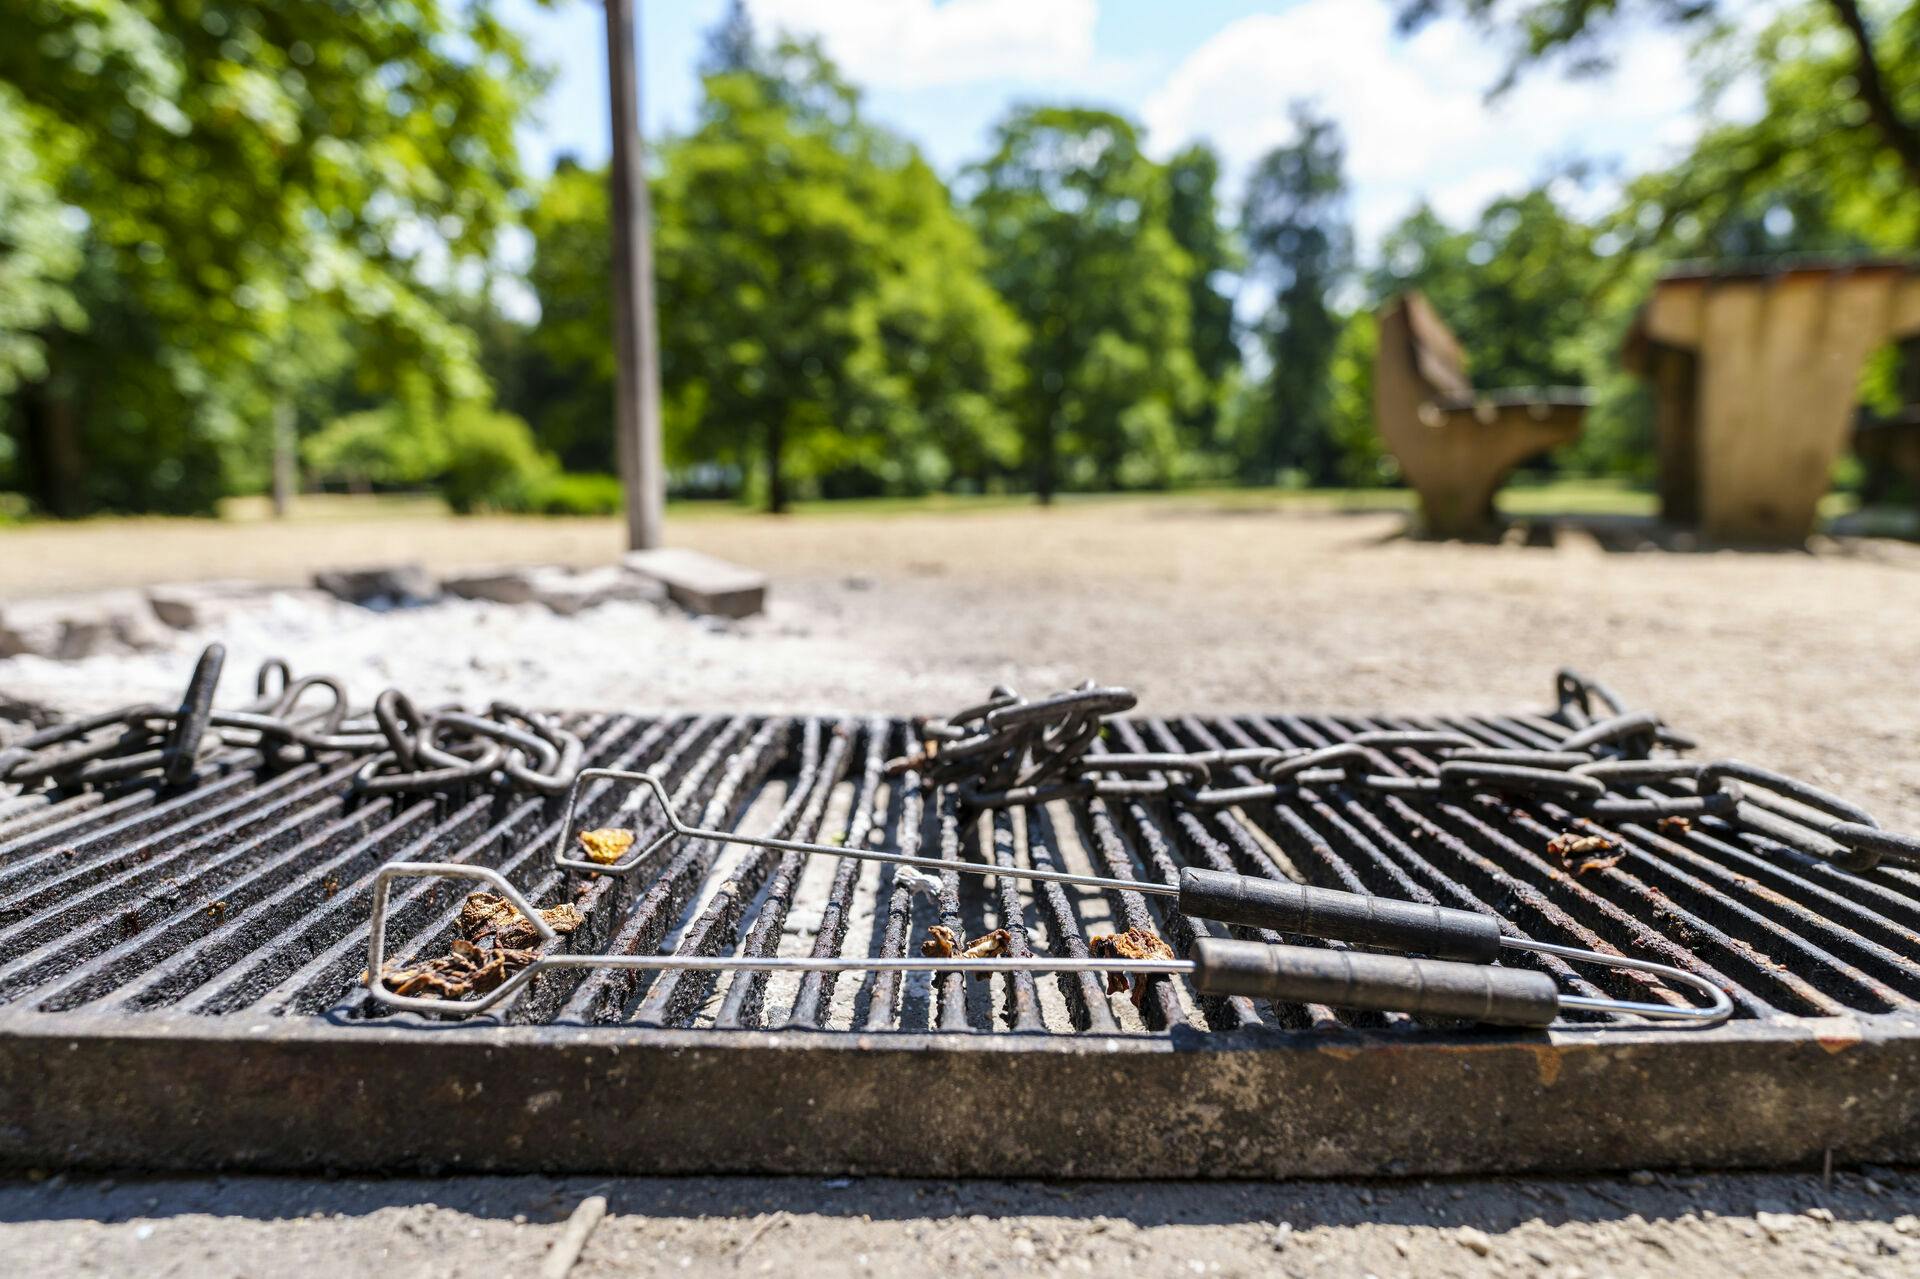
[[[1119,115],[1020,108],[968,181],[991,278],[1031,332],[1021,430],[1039,499],[1173,480],[1204,382],[1165,171]]]

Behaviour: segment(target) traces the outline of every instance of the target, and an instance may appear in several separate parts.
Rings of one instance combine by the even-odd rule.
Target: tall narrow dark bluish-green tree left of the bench
[[[1346,148],[1331,121],[1294,108],[1296,138],[1267,152],[1246,182],[1240,234],[1248,278],[1273,294],[1258,325],[1269,373],[1261,411],[1242,424],[1236,449],[1250,482],[1304,471],[1315,484],[1340,474],[1329,407],[1329,367],[1340,317],[1329,294],[1352,271]]]

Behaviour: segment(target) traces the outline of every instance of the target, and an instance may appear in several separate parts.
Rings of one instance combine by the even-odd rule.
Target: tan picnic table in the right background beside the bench
[[[1805,542],[1853,430],[1860,367],[1916,332],[1920,273],[1907,261],[1663,275],[1624,351],[1653,384],[1661,515],[1715,542]]]

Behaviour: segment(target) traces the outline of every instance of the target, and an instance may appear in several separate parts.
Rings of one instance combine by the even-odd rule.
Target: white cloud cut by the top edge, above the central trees
[[[756,23],[816,35],[856,84],[927,88],[1092,67],[1096,0],[753,0]]]

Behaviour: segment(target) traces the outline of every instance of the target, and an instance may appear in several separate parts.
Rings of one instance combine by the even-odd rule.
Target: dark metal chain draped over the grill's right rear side
[[[916,772],[925,785],[956,785],[962,801],[977,808],[1054,799],[1162,799],[1231,808],[1325,785],[1425,799],[1540,795],[1605,820],[1734,820],[1847,870],[1870,870],[1885,857],[1920,862],[1920,839],[1884,830],[1866,810],[1814,785],[1738,760],[1678,759],[1674,753],[1695,745],[1690,737],[1651,711],[1626,711],[1597,680],[1561,670],[1555,699],[1555,714],[1569,728],[1549,749],[1488,747],[1457,732],[1377,730],[1292,751],[1092,753],[1106,718],[1135,707],[1131,691],[1087,682],[1027,701],[1010,688],[995,688],[985,703],[925,720],[922,747],[887,768],[895,776]],[[1398,776],[1384,755],[1396,749],[1432,751],[1440,768],[1425,778]],[[1261,780],[1231,784],[1235,768],[1250,768]],[[1692,793],[1634,799],[1615,791],[1615,785],[1653,784],[1690,785]]]

